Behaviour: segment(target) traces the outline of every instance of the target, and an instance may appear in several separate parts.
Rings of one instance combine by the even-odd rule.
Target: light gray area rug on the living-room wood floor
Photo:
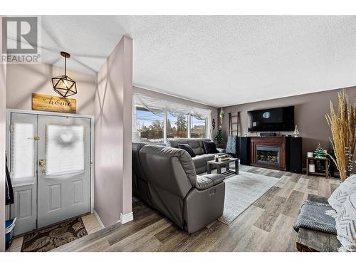
[[[238,175],[225,179],[224,213],[218,220],[226,225],[231,224],[278,181],[276,177],[241,171]]]

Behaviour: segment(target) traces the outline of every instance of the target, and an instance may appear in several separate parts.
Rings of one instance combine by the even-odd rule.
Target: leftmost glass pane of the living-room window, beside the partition
[[[141,142],[164,142],[164,114],[154,114],[145,108],[136,108],[137,132]]]

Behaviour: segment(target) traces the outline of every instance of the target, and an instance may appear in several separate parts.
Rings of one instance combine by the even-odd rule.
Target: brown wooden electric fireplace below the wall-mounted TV
[[[251,137],[251,165],[286,170],[285,137]]]

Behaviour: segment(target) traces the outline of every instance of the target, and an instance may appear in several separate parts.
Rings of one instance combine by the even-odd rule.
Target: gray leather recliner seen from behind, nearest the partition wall
[[[193,233],[224,211],[221,174],[197,175],[185,150],[132,143],[132,189],[181,229]]]

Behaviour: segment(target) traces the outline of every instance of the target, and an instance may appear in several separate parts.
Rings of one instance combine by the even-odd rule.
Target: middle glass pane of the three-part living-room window
[[[167,138],[188,137],[188,114],[167,115]]]

